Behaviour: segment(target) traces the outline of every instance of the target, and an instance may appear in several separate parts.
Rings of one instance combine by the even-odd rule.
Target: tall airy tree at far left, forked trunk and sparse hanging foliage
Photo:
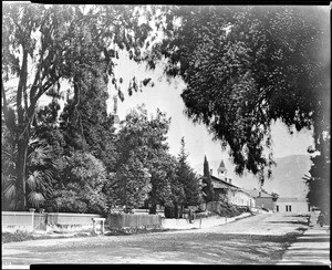
[[[152,29],[142,19],[145,9],[134,6],[4,3],[2,8],[2,118],[18,150],[15,196],[23,210],[28,145],[41,97],[60,98],[61,82],[69,80],[75,107],[86,81],[102,77],[117,85],[114,65],[120,51],[141,61],[139,48]]]

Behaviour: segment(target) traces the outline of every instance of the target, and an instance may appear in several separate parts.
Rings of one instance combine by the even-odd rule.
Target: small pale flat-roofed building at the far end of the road
[[[310,211],[310,205],[301,198],[279,198],[274,211],[303,214]]]

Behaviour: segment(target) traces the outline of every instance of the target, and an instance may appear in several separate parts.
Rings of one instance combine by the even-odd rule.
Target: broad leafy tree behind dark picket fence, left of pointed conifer
[[[142,105],[132,110],[121,124],[114,179],[121,205],[134,208],[148,198],[157,204],[169,197],[165,193],[169,181],[168,166],[163,166],[164,157],[168,155],[166,134],[169,122],[160,111],[149,118]]]

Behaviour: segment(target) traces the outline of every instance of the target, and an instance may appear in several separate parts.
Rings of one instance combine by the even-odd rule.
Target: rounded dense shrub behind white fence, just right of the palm
[[[82,152],[63,159],[61,183],[46,207],[48,211],[105,214],[106,197],[102,190],[107,178],[104,164]]]

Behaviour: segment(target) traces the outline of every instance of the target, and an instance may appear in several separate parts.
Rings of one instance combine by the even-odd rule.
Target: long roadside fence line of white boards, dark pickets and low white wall
[[[73,214],[73,212],[20,212],[2,211],[2,231],[80,231],[93,230],[93,218],[101,218],[101,215]],[[209,228],[218,225],[235,221],[250,216],[246,212],[237,217],[226,218],[220,216],[200,217],[194,219],[163,218],[159,215],[144,214],[108,214],[106,226],[111,229],[122,228],[163,228],[163,229],[194,229]]]

